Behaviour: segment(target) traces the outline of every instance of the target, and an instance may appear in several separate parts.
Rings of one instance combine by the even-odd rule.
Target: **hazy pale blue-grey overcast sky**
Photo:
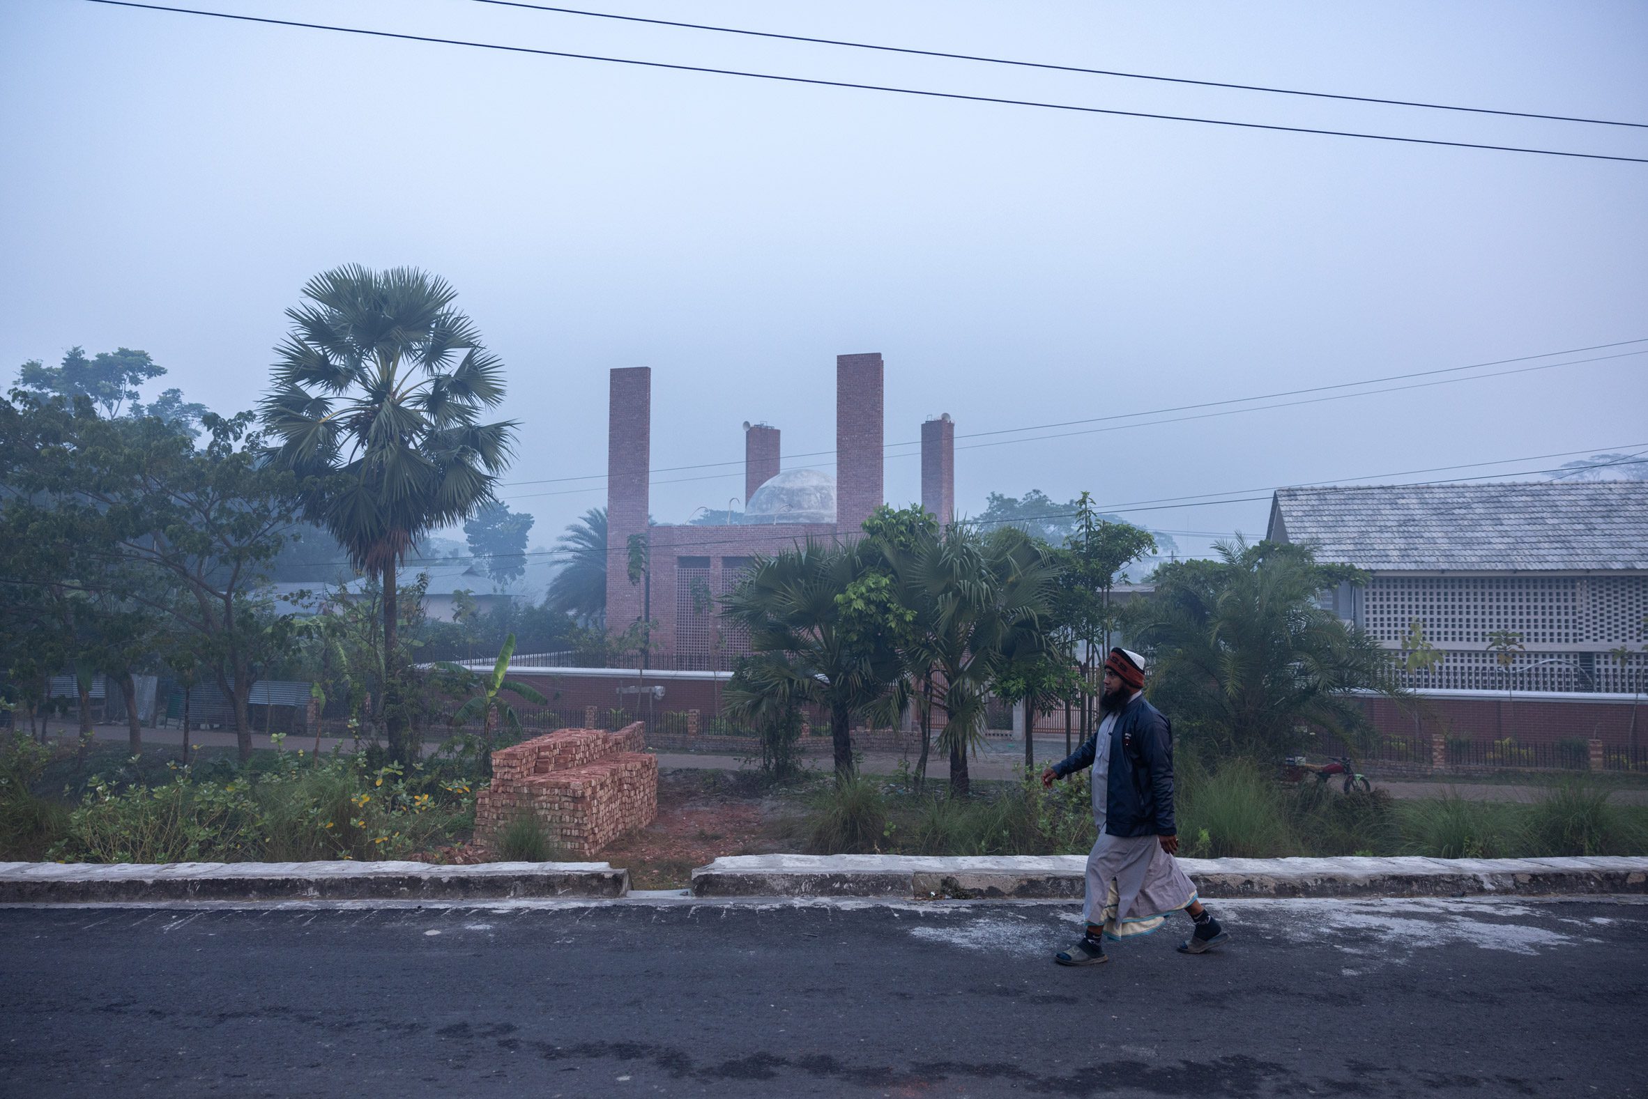
[[[1648,157],[1643,129],[1005,69],[468,0],[183,7]],[[603,0],[602,10],[1648,122],[1648,5],[1638,2]],[[443,275],[508,367],[504,414],[522,430],[501,494],[537,516],[534,544],[605,503],[602,479],[549,479],[605,471],[613,366],[653,367],[653,466],[667,468],[740,461],[743,420],[781,427],[786,456],[832,450],[834,356],[880,351],[890,443],[918,438],[928,417],[956,419],[964,512],[981,511],[990,491],[1040,488],[1065,499],[1091,489],[1104,506],[1648,447],[1643,354],[967,448],[1023,438],[967,438],[976,432],[1648,338],[1641,163],[7,0],[0,193],[7,379],[25,359],[54,362],[71,344],[142,348],[170,371],[163,384],[232,412],[264,390],[283,310],[316,272],[358,262]],[[920,494],[913,453],[890,451],[890,503]],[[681,479],[705,473],[717,471],[656,473],[676,481],[654,486],[656,517],[684,521],[742,496],[738,465]],[[1262,534],[1266,511],[1244,499],[1129,516],[1200,552],[1216,532]]]

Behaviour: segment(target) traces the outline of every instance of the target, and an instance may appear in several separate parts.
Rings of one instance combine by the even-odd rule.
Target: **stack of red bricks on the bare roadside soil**
[[[616,733],[562,728],[493,753],[493,784],[475,802],[475,839],[489,842],[521,816],[552,844],[593,855],[658,816],[658,756],[646,755],[643,725]]]

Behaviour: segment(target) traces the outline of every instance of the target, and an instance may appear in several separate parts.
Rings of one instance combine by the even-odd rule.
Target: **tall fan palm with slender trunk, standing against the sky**
[[[445,280],[349,265],[303,297],[262,400],[270,458],[302,478],[305,516],[382,578],[384,718],[404,761],[415,746],[399,707],[396,570],[422,535],[493,499],[516,423],[480,422],[504,399],[503,364]]]

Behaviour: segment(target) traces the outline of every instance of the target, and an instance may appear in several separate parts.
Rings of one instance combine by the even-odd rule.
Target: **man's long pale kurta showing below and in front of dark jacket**
[[[1103,924],[1104,938],[1124,939],[1160,928],[1167,913],[1196,900],[1196,886],[1162,850],[1155,835],[1111,835],[1104,830],[1114,725],[1116,715],[1104,715],[1093,751],[1093,822],[1099,839],[1088,855],[1081,914],[1089,924]]]

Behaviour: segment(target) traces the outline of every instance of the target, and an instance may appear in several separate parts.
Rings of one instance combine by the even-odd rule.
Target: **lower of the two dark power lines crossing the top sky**
[[[928,99],[953,99],[959,102],[1000,104],[1007,107],[1037,107],[1042,110],[1070,110],[1076,114],[1101,114],[1119,119],[1154,119],[1159,122],[1192,122],[1196,125],[1221,125],[1239,130],[1271,130],[1276,133],[1315,133],[1320,137],[1351,137],[1369,142],[1396,142],[1401,145],[1439,145],[1447,148],[1478,148],[1496,153],[1529,153],[1536,157],[1569,157],[1575,160],[1612,160],[1620,163],[1648,165],[1648,157],[1622,157],[1615,153],[1577,153],[1559,148],[1533,148],[1526,145],[1493,145],[1488,142],[1447,142],[1435,137],[1399,137],[1394,133],[1366,133],[1360,130],[1328,130],[1307,125],[1279,125],[1272,122],[1239,122],[1236,119],[1206,119],[1200,115],[1162,114],[1152,110],[1121,110],[1117,107],[1081,107],[1076,104],[1056,104],[1037,99],[1009,99],[1002,96],[969,96],[964,92],[939,92],[921,87],[895,87],[892,84],[864,84],[857,81],[826,81],[812,76],[783,76],[778,72],[753,72],[748,69],[722,69],[707,64],[681,64],[672,61],[641,61],[639,58],[611,58],[593,53],[574,53],[569,49],[536,49],[531,46],[508,46],[503,43],[470,41],[463,38],[440,38],[435,35],[407,35],[404,31],[377,31],[364,26],[338,26],[333,23],[305,23],[300,20],[275,20],[264,15],[236,15],[232,12],[208,12],[203,8],[178,8],[162,3],[137,3],[135,0],[86,0],[115,8],[140,8],[145,12],[171,12],[175,15],[199,15],[237,23],[264,23],[267,26],[293,26],[315,31],[333,31],[339,35],[363,35],[368,38],[394,38],[399,41],[419,41],[440,46],[465,46],[470,49],[496,49],[499,53],[532,54],[539,58],[567,58],[574,61],[600,61],[605,64],[630,64],[646,69],[671,69],[676,72],[705,72],[714,76],[740,76],[755,81],[776,81],[783,84],[811,84],[816,87],[845,87],[865,92],[887,92],[895,96],[923,96]]]

